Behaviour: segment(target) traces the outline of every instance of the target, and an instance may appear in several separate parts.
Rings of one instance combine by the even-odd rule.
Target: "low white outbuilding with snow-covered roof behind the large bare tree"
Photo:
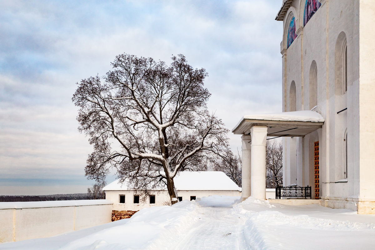
[[[178,199],[195,200],[210,195],[241,196],[241,188],[225,173],[220,171],[180,172],[174,178]],[[113,181],[103,188],[105,198],[113,202],[112,210],[138,211],[145,207],[163,206],[170,202],[166,187],[153,190],[146,202],[139,199],[135,190],[128,189],[127,183]]]

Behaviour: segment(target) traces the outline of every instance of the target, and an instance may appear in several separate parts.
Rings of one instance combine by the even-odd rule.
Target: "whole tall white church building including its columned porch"
[[[321,205],[375,213],[375,1],[283,0],[282,113],[245,115],[242,198],[265,196],[266,138],[283,138],[283,183]]]

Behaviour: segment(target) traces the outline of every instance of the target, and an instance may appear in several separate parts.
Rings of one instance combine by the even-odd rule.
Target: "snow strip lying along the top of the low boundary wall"
[[[113,204],[113,202],[109,200],[0,202],[0,209],[75,207],[110,204]]]

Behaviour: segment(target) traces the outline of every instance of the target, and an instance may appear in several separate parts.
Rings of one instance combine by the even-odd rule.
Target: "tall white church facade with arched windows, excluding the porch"
[[[320,3],[305,25],[306,0],[284,1],[286,12],[278,16],[284,22],[283,112],[317,105],[324,118],[321,129],[284,137],[284,186],[314,189],[318,142],[321,204],[375,213],[375,1]],[[288,48],[293,17],[296,38]]]

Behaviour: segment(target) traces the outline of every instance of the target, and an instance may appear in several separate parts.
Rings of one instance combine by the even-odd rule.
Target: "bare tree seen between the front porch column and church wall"
[[[266,143],[266,187],[282,186],[282,142],[267,140]]]

